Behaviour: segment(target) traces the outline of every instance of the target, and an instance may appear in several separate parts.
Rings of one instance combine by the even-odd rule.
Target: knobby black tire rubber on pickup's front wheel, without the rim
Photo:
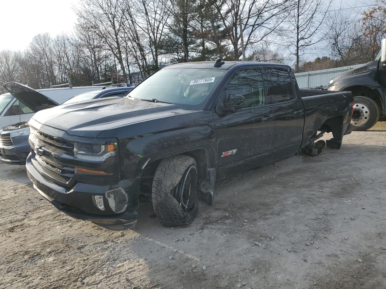
[[[154,174],[152,185],[154,212],[156,213],[159,222],[165,227],[188,225],[197,215],[197,190],[194,192],[194,206],[187,212],[183,210],[179,202],[171,194],[180,183],[182,176],[191,166],[196,168],[196,161],[190,156],[170,156],[164,158],[159,163],[156,173]]]

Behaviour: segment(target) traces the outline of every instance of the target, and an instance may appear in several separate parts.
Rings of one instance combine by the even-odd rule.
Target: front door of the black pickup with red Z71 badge
[[[271,161],[275,119],[265,83],[264,69],[249,66],[235,71],[220,92],[244,98],[234,113],[213,112],[220,178]]]

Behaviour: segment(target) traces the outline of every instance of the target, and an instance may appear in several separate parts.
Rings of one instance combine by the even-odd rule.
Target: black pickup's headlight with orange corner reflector
[[[90,144],[74,142],[74,156],[86,161],[105,161],[110,156],[114,156],[118,144]]]

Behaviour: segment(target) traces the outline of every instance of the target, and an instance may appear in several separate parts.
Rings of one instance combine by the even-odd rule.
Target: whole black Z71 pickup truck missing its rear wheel
[[[27,173],[74,218],[127,229],[148,200],[162,225],[186,225],[198,200],[212,203],[216,180],[300,150],[317,155],[323,133],[339,149],[352,104],[351,92],[300,90],[285,65],[171,65],[124,98],[37,112]]]

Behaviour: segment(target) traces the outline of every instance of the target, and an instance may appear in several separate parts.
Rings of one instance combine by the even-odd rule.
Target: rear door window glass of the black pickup
[[[291,77],[286,69],[267,68],[267,73],[271,78],[269,91],[273,102],[278,103],[295,99]]]

